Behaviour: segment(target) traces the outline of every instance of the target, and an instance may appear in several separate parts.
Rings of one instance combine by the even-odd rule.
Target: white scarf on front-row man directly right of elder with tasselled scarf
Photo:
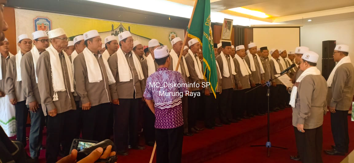
[[[86,68],[87,68],[87,77],[89,78],[89,82],[96,83],[101,81],[103,77],[95,55],[87,47],[84,49],[82,53],[84,53],[84,58],[85,58]],[[102,55],[98,54],[98,59],[99,56]],[[108,85],[115,83],[114,77],[112,75],[112,72],[110,71],[107,60],[105,60],[104,58],[102,58],[102,60],[108,76]]]

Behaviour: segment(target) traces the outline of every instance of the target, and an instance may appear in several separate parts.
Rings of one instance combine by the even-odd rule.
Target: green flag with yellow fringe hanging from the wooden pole
[[[210,83],[210,88],[216,98],[218,85],[217,70],[214,54],[214,41],[210,23],[210,0],[198,0],[195,5],[188,37],[198,38],[202,46],[204,61],[204,79]]]

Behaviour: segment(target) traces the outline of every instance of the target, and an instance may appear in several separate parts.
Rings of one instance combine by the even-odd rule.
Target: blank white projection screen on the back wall
[[[257,48],[295,50],[300,46],[300,27],[254,27],[253,42]]]

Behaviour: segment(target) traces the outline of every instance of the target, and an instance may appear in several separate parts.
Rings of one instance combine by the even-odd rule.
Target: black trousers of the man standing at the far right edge
[[[331,128],[335,149],[339,152],[348,152],[349,134],[348,134],[348,110],[336,110],[331,113]]]

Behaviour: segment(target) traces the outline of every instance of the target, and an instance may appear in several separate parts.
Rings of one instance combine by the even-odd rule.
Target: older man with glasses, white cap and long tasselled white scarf
[[[70,59],[64,52],[68,37],[62,28],[48,32],[51,45],[41,53],[36,65],[43,113],[47,117],[46,161],[56,162],[62,144],[69,153],[76,133],[74,77]]]

